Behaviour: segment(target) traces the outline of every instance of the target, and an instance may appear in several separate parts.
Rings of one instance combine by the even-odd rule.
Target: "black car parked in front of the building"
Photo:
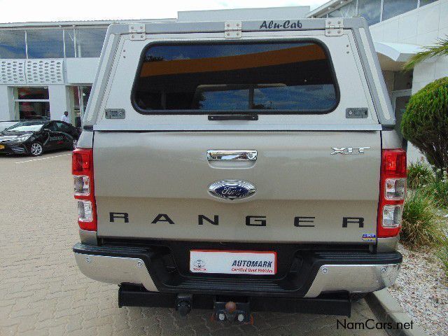
[[[76,148],[80,129],[63,121],[25,120],[0,132],[0,154],[41,155]]]

